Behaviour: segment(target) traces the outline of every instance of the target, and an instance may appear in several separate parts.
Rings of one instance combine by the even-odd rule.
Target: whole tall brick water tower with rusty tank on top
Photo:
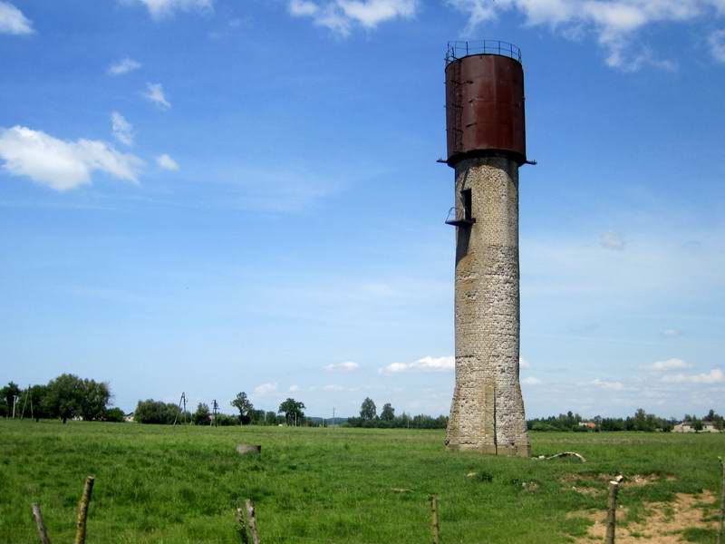
[[[448,158],[456,170],[456,386],[451,450],[528,456],[518,379],[518,168],[527,163],[524,70],[513,44],[446,54]]]

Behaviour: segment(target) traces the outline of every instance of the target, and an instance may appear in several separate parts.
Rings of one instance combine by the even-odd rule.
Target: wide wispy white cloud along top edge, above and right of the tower
[[[547,25],[568,38],[594,34],[606,51],[605,62],[625,72],[644,65],[675,70],[675,63],[658,60],[646,47],[633,46],[633,37],[645,26],[690,21],[722,14],[722,0],[447,0],[469,18],[466,34],[501,12],[524,15],[528,26]]]

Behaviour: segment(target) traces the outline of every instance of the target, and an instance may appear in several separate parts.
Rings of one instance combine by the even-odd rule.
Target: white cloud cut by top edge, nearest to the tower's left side
[[[314,24],[347,36],[354,24],[372,29],[396,18],[414,16],[418,0],[290,0],[288,7],[290,15],[311,17]]]

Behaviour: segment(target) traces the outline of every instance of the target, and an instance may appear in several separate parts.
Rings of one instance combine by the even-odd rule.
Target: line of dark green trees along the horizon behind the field
[[[32,385],[22,389],[18,384],[10,382],[0,388],[0,417],[33,417],[41,419],[60,419],[65,423],[69,419],[83,421],[103,421],[121,423],[126,414],[118,407],[111,407],[111,386],[107,382],[96,382],[82,379],[75,374],[61,374],[47,384]],[[280,403],[277,412],[257,410],[247,397],[240,392],[229,403],[237,409],[238,415],[227,413],[213,414],[207,403],[198,403],[196,411],[182,411],[179,404],[164,403],[148,399],[139,401],[133,413],[133,420],[138,423],[171,424],[194,423],[198,425],[311,425],[324,424],[322,418],[305,416],[304,403],[287,398]],[[13,412],[14,411],[14,412]],[[345,418],[341,418],[345,419]],[[408,413],[395,414],[391,403],[385,403],[380,413],[370,397],[366,397],[360,407],[359,417],[346,418],[343,426],[379,428],[379,429],[445,429],[449,418],[440,415]],[[685,423],[691,423],[695,431],[702,430],[705,423],[711,423],[717,430],[725,430],[725,419],[714,410],[701,418],[686,414]],[[665,419],[646,413],[642,408],[633,416],[625,418],[595,416],[585,419],[578,413],[560,413],[549,417],[527,420],[530,431],[565,431],[565,432],[670,432],[675,424],[674,419]]]

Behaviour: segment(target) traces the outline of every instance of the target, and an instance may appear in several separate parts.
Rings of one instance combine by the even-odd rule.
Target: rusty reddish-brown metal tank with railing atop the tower
[[[524,69],[516,45],[449,43],[446,125],[449,166],[470,157],[527,161]]]

